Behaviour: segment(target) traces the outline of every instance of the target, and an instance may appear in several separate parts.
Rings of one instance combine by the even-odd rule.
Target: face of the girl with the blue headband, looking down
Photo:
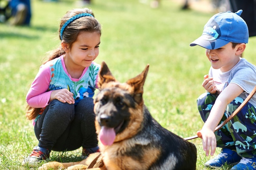
[[[98,32],[80,32],[71,47],[66,45],[65,58],[73,68],[84,69],[92,64],[99,55],[100,34]],[[63,45],[62,45],[63,47]]]

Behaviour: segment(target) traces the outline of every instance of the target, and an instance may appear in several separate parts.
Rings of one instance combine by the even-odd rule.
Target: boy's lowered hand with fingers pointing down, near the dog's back
[[[210,129],[203,128],[200,131],[197,131],[197,136],[203,139],[203,149],[205,151],[205,155],[209,155],[209,151],[211,148],[211,156],[215,153],[216,149],[216,136],[214,132]]]

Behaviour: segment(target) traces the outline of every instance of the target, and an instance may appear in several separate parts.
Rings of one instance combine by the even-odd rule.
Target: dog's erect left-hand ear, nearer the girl
[[[111,74],[107,64],[103,61],[101,63],[101,68],[98,73],[98,88],[101,89],[101,86],[104,83],[108,83],[110,81],[116,81],[115,77]]]

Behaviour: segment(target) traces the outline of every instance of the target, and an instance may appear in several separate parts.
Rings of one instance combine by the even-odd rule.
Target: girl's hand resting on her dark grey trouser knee
[[[73,98],[73,93],[71,93],[68,89],[59,89],[53,90],[50,96],[50,101],[57,99],[63,103],[67,102],[69,104],[75,104],[75,99]]]

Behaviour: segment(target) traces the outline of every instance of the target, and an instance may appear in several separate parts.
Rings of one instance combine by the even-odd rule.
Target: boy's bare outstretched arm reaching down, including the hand
[[[203,149],[206,152],[206,156],[209,155],[210,147],[211,155],[215,153],[216,137],[214,130],[220,123],[227,105],[241,93],[243,93],[243,89],[239,85],[230,83],[216,99],[202,130],[197,132],[199,138],[203,139]]]

